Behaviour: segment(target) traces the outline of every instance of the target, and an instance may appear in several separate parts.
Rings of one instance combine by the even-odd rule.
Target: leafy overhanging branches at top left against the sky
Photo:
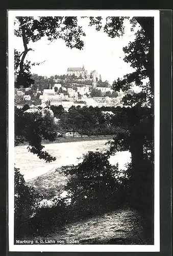
[[[33,83],[31,79],[31,65],[39,63],[31,63],[26,59],[29,51],[30,41],[36,42],[46,36],[48,40],[61,38],[65,41],[67,47],[83,48],[81,36],[85,36],[82,27],[78,26],[77,17],[16,17],[15,35],[21,37],[23,41],[23,52],[15,50],[15,74],[17,75],[16,87],[28,87]]]

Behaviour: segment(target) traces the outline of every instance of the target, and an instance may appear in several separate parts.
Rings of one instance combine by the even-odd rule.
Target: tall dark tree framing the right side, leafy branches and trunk
[[[132,29],[140,25],[134,41],[123,48],[125,62],[135,70],[113,82],[116,92],[126,92],[134,85],[140,93],[128,93],[123,97],[125,110],[115,115],[114,124],[121,132],[111,143],[110,151],[129,150],[132,163],[129,166],[129,199],[142,210],[149,236],[153,236],[154,218],[154,18],[153,17],[90,17],[90,26],[103,29],[109,37],[125,33],[124,21],[128,19]],[[145,79],[145,82],[143,82]],[[148,81],[147,81],[148,80]],[[146,82],[147,81],[147,82]],[[127,109],[129,106],[129,109]]]

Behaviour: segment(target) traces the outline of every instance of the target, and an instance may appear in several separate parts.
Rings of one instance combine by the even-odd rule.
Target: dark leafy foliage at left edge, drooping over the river
[[[54,141],[56,139],[54,118],[46,109],[35,113],[26,113],[26,108],[15,108],[15,145],[28,142],[28,150],[36,154],[46,162],[55,161],[46,151],[42,151],[44,146],[42,139]]]

